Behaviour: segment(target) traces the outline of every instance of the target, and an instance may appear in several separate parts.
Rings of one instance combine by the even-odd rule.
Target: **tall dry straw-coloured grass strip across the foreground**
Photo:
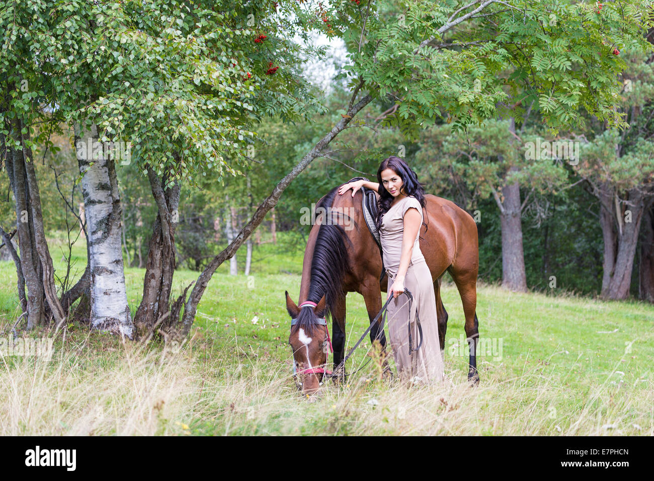
[[[374,359],[307,402],[290,365],[260,351],[206,355],[94,336],[61,342],[50,361],[0,359],[0,435],[654,434],[651,382],[607,376],[579,388],[572,372],[549,369],[552,357],[519,376],[500,363],[477,387],[449,361],[446,382],[409,388],[382,380]]]

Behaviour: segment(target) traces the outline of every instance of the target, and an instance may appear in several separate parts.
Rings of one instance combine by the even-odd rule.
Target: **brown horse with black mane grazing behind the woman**
[[[317,393],[324,378],[330,317],[334,367],[345,357],[345,294],[362,294],[368,317],[373,321],[382,307],[380,291],[388,289],[388,276],[385,275],[381,283],[379,281],[382,258],[364,219],[362,190],[354,197],[351,194],[339,196],[337,190],[338,187],[334,187],[316,205],[317,215],[312,217],[314,225],[304,252],[299,304],[295,304],[286,291],[286,310],[294,319],[288,342],[305,394]],[[476,385],[479,383],[475,357],[479,338],[475,312],[479,270],[477,224],[470,214],[447,199],[426,194],[425,202],[420,249],[434,283],[441,355],[444,356],[447,311],[443,307],[440,287],[441,277],[447,270],[463,303],[470,346],[468,380]],[[427,319],[422,319],[425,321]],[[370,330],[371,341],[377,338],[381,319],[378,322]],[[379,332],[379,342],[384,350],[383,330]],[[384,367],[388,369],[387,363]],[[339,377],[343,374],[344,367],[343,371],[334,373]]]

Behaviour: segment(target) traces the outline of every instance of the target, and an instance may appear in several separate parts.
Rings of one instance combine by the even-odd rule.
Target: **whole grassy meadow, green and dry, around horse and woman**
[[[0,359],[0,408],[7,412],[0,435],[654,434],[654,306],[492,285],[479,286],[479,333],[496,349],[501,342],[501,351],[479,355],[479,387],[466,382],[467,351],[457,347],[465,336],[460,298],[444,283],[449,383],[407,389],[381,380],[373,362],[306,402],[290,376],[284,303],[285,290],[298,300],[303,253],[277,249],[254,248],[250,278],[230,276],[228,262],[219,268],[179,351],[122,345],[72,325],[57,334],[52,361]],[[59,274],[61,257],[51,250]],[[75,247],[79,274],[84,254]],[[144,272],[126,270],[132,310]],[[7,338],[17,314],[12,262],[0,264],[0,276],[0,332]],[[175,288],[197,276],[175,272]],[[368,325],[360,294],[348,294],[347,319],[351,345]],[[367,359],[366,341],[349,370]]]

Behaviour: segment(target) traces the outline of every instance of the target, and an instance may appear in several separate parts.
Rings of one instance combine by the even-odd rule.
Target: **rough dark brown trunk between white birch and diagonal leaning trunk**
[[[143,298],[134,315],[134,324],[139,338],[153,329],[160,318],[170,310],[170,295],[173,289],[173,274],[177,251],[175,250],[175,228],[179,220],[180,185],[163,190],[167,184],[164,175],[159,179],[153,168],[148,168],[150,189],[157,204],[157,218],[154,221],[148,249],[148,260],[143,279]]]

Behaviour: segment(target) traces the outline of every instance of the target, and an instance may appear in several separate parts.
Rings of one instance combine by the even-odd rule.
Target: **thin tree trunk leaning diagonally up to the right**
[[[300,161],[299,164],[297,164],[290,173],[288,173],[284,178],[279,181],[279,183],[273,188],[273,191],[267,198],[262,202],[259,207],[256,209],[252,217],[250,218],[249,223],[245,224],[245,226],[241,229],[239,234],[236,236],[236,238],[224,249],[220,254],[216,255],[211,262],[207,265],[207,267],[202,271],[202,274],[198,277],[198,280],[196,281],[193,290],[191,291],[191,294],[188,296],[188,300],[184,303],[184,315],[182,317],[182,326],[181,329],[177,332],[174,332],[174,337],[175,338],[184,338],[188,335],[188,332],[190,332],[191,326],[193,325],[193,321],[195,320],[196,317],[196,312],[198,311],[198,303],[200,302],[200,299],[202,298],[202,294],[204,293],[205,289],[207,289],[207,284],[211,280],[211,276],[213,276],[213,273],[216,272],[216,269],[222,262],[227,260],[228,258],[232,258],[233,255],[236,253],[237,249],[243,244],[247,238],[252,234],[254,229],[262,223],[264,220],[264,217],[266,216],[266,213],[275,207],[277,202],[279,202],[279,198],[281,197],[282,193],[290,185],[290,183],[300,175],[300,172],[303,171],[309,164],[311,164],[311,161],[315,159],[319,154],[322,149],[327,147],[329,143],[336,138],[336,136],[343,131],[343,129],[351,122],[351,120],[356,116],[357,113],[361,111],[370,101],[372,100],[371,94],[367,94],[362,98],[360,101],[354,103],[352,102],[353,105],[350,105],[349,108],[347,109],[347,115],[343,116],[341,120],[339,120],[334,128],[332,130],[324,135],[320,141],[309,151]],[[187,287],[188,289],[188,287]],[[177,299],[177,302],[181,304],[181,302],[186,298],[186,291],[182,293],[182,295]],[[171,315],[173,317],[173,315]],[[175,315],[174,317],[177,317]],[[173,334],[173,333],[171,333]]]

